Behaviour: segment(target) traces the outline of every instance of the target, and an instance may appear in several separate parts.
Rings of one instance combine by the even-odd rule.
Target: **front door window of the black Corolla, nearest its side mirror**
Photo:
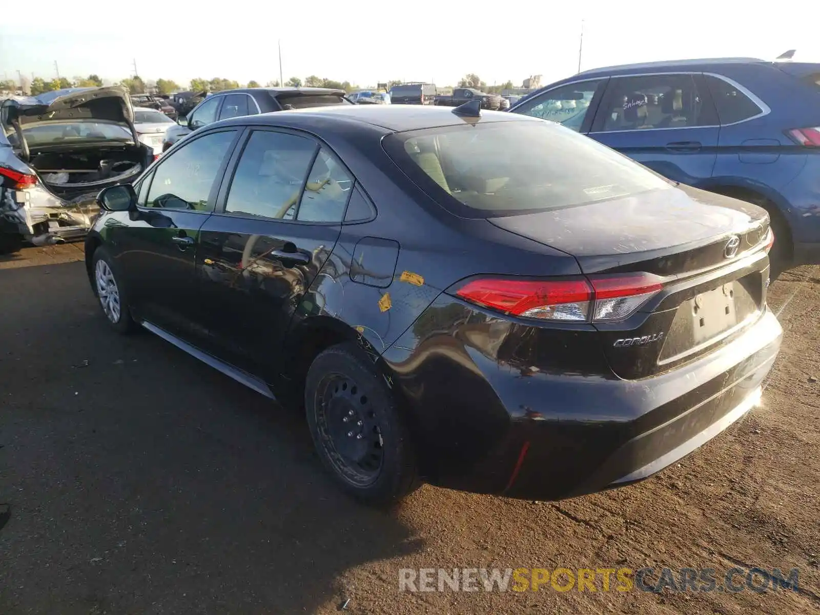
[[[225,155],[236,136],[235,130],[206,134],[180,144],[157,163],[146,207],[211,211],[211,190]]]

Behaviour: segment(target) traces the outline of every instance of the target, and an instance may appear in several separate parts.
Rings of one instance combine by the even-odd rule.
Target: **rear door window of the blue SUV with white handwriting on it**
[[[712,125],[711,115],[693,75],[613,77],[595,130],[690,128]]]

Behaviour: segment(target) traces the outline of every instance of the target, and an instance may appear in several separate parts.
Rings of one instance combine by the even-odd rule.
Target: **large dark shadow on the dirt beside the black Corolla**
[[[421,549],[335,489],[298,414],[109,330],[82,263],[0,285],[0,612],[311,613]]]

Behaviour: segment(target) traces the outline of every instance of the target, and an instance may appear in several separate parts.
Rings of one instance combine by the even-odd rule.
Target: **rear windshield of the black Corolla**
[[[668,189],[672,183],[573,130],[503,121],[391,134],[394,162],[459,216],[571,207]]]

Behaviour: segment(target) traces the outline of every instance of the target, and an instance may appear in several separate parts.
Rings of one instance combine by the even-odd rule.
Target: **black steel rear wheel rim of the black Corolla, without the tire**
[[[347,376],[326,376],[317,390],[317,426],[322,444],[339,473],[354,485],[376,481],[383,440],[367,395]]]

